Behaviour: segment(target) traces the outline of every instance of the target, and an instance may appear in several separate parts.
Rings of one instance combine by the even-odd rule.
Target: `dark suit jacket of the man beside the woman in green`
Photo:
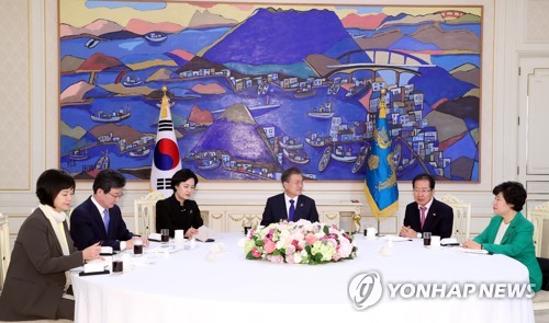
[[[453,209],[435,198],[425,217],[425,223],[422,229],[421,214],[417,203],[411,203],[406,206],[404,214],[404,227],[410,226],[416,232],[432,232],[433,235],[440,235],[440,239],[450,238],[453,227]]]

